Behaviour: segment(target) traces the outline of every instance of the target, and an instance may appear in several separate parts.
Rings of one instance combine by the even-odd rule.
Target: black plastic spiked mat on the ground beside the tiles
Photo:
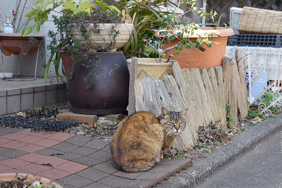
[[[44,110],[26,112],[26,117],[3,116],[0,118],[0,125],[9,127],[31,128],[32,131],[55,131],[60,130],[76,123],[77,121],[52,121],[50,117],[59,114],[57,108],[54,110]]]

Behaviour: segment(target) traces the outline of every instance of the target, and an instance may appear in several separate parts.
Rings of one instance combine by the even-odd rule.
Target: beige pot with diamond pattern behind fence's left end
[[[131,60],[132,58],[126,60],[129,71]],[[154,80],[163,80],[164,75],[173,75],[172,63],[175,62],[175,60],[170,60],[167,63],[164,63],[166,59],[162,59],[161,63],[157,63],[158,59],[156,58],[137,58],[137,60],[138,79],[142,78],[143,76],[152,75]]]

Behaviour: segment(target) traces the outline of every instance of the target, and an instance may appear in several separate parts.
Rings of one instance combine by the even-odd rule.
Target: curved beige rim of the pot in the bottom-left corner
[[[29,180],[34,180],[34,181],[39,181],[40,183],[42,183],[43,185],[49,185],[49,187],[51,187],[51,184],[55,185],[55,188],[63,188],[61,185],[53,182],[52,180],[49,180],[47,178],[43,178],[37,175],[30,175],[30,174],[16,174],[16,173],[5,173],[5,174],[0,174],[0,180],[2,181],[9,181],[9,180],[13,180],[14,178],[18,178],[19,176],[23,176],[26,177],[25,180],[29,181]]]

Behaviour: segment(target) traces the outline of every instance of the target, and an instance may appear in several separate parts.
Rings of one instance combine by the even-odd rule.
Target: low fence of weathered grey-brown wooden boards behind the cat
[[[237,56],[240,58],[240,54]],[[245,103],[247,98],[242,95],[246,89],[246,84],[242,81],[242,63],[240,60],[236,62],[235,59],[224,58],[223,68],[217,66],[215,70],[211,67],[200,71],[196,68],[180,69],[175,62],[174,77],[165,75],[163,81],[154,81],[152,76],[131,79],[130,82],[134,80],[135,109],[159,116],[161,107],[178,112],[188,108],[186,129],[175,139],[173,147],[180,150],[191,148],[196,143],[199,126],[206,126],[217,120],[226,122],[227,103],[231,106],[231,127],[238,123],[238,112],[240,118],[248,112],[248,103]],[[131,71],[137,70],[133,67]]]

